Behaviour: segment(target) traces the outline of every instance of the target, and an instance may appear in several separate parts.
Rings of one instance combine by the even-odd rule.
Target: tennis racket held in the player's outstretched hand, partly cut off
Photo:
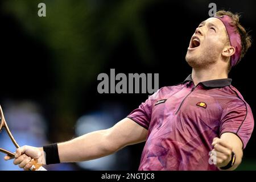
[[[19,148],[19,145],[18,143],[15,141],[13,135],[11,134],[11,131],[9,130],[9,127],[5,121],[5,116],[3,115],[3,110],[2,110],[2,107],[0,105],[0,132],[2,131],[2,128],[5,128],[9,137],[11,138],[11,141],[13,142],[14,146],[16,148]],[[3,152],[9,156],[11,156],[11,158],[14,158],[15,157],[15,154],[13,152],[10,152],[10,151],[7,151],[3,148],[0,148],[0,152]],[[42,167],[42,165],[36,163],[36,160],[32,159],[31,160],[32,162],[32,167],[30,168],[31,171],[47,171],[45,168]]]

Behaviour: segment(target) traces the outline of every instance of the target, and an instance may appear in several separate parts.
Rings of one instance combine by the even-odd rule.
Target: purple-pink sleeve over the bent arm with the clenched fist
[[[234,133],[242,141],[243,149],[253,133],[254,119],[251,108],[245,101],[232,101],[223,111],[221,118],[220,135]]]

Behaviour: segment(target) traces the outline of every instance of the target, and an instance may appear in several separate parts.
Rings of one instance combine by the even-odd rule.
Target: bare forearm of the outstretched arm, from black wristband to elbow
[[[97,159],[117,151],[119,147],[108,139],[108,133],[108,130],[94,131],[68,142],[58,143],[60,162]]]

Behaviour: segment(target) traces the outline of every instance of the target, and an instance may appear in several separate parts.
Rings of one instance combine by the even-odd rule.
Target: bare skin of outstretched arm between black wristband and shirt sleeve
[[[59,143],[60,162],[79,162],[113,154],[130,144],[144,142],[147,130],[129,118],[107,130],[94,131]]]

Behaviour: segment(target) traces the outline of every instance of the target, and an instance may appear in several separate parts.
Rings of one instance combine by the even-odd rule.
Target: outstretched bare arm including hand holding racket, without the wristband
[[[144,142],[147,130],[129,118],[122,119],[110,129],[94,131],[69,140],[58,143],[60,162],[80,162],[101,158],[113,154],[130,144]],[[46,164],[43,148],[23,146],[16,150],[14,164],[20,168],[29,169],[31,158],[38,160],[40,164]],[[5,160],[9,160],[5,156]]]

